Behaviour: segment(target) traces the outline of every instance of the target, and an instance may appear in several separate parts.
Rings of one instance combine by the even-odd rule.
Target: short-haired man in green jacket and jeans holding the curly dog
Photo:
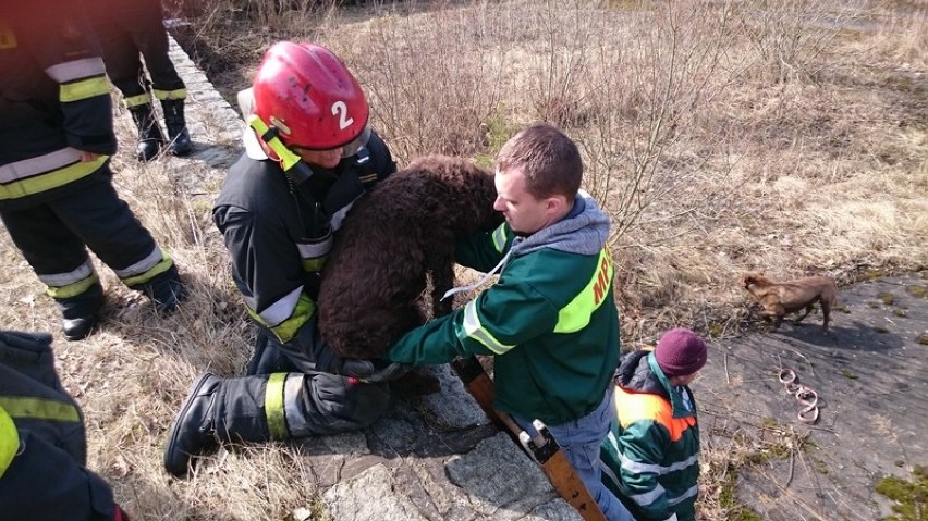
[[[609,218],[579,191],[579,151],[551,125],[516,134],[496,166],[493,208],[505,223],[456,253],[463,265],[501,269],[499,281],[407,333],[387,356],[414,365],[493,356],[494,407],[530,435],[533,420],[546,423],[607,519],[630,520],[602,485],[598,458],[614,419],[619,360]]]

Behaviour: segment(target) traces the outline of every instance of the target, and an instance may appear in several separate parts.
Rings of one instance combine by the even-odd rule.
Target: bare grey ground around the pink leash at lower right
[[[891,501],[876,484],[888,475],[911,481],[913,467],[928,462],[926,278],[921,272],[843,288],[828,334],[814,314],[713,345],[694,384],[704,445],[804,436],[789,454],[760,455],[741,471],[736,497],[762,519],[882,519]],[[786,369],[817,392],[815,424],[798,420],[802,407],[779,379]]]

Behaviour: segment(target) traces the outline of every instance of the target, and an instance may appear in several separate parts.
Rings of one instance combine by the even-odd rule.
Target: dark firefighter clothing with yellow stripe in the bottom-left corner
[[[50,342],[0,332],[0,518],[122,519],[109,485],[84,468],[83,418]]]

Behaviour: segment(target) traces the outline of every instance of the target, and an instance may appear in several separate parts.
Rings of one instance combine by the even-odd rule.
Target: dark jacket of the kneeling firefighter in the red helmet
[[[278,340],[300,342],[294,338],[316,312],[332,233],[354,200],[395,169],[373,132],[367,145],[335,169],[314,169],[307,183],[315,204],[296,191],[277,161],[246,153],[229,169],[212,218],[225,237],[232,276],[249,313]]]

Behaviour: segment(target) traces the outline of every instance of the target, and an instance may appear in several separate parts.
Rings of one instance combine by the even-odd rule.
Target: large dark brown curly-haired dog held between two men
[[[359,198],[345,216],[322,274],[319,330],[342,357],[379,358],[422,325],[431,276],[432,313],[454,285],[459,238],[502,223],[493,174],[472,162],[427,156]]]

